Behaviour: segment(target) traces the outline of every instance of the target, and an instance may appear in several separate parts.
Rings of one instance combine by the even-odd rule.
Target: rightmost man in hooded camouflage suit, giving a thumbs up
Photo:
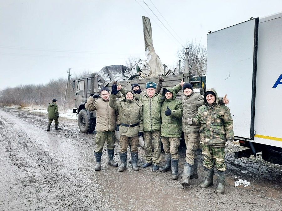
[[[200,184],[202,188],[213,185],[214,162],[217,168],[217,193],[225,193],[224,148],[229,148],[234,140],[233,120],[227,106],[219,104],[214,89],[207,89],[204,102],[198,109],[195,118],[188,115],[187,123],[200,125],[200,142],[203,145],[205,180]]]

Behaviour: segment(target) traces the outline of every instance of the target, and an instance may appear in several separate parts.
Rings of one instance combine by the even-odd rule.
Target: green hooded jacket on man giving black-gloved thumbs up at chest
[[[182,103],[180,100],[176,99],[176,92],[173,88],[167,88],[173,94],[170,99],[165,99],[165,88],[163,89],[163,96],[161,100],[163,101],[161,107],[161,136],[165,137],[181,137],[182,133]],[[171,110],[170,116],[165,116],[166,107]]]

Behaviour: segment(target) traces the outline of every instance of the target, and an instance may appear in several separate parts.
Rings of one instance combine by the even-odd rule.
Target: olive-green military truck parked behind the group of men
[[[124,88],[131,89],[133,83],[138,83],[142,90],[145,90],[145,85],[149,81],[155,83],[159,82],[158,77],[153,78],[140,78],[138,74],[132,72],[131,68],[123,65],[105,66],[98,73],[91,73],[81,76],[73,81],[72,87],[76,93],[75,108],[73,113],[77,113],[78,127],[82,133],[92,133],[96,126],[96,111],[88,111],[85,108],[87,99],[95,93],[100,93],[103,86],[107,86],[111,91],[112,81],[118,81]],[[183,73],[177,75],[163,76],[163,88],[173,87],[180,83],[183,79],[184,82],[190,81],[190,73]],[[177,93],[177,97],[181,98],[182,92]]]

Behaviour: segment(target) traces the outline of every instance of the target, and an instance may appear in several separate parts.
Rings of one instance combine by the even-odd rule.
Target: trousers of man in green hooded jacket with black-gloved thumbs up
[[[162,137],[165,154],[171,154],[171,158],[179,159],[178,147],[180,145],[180,138]]]

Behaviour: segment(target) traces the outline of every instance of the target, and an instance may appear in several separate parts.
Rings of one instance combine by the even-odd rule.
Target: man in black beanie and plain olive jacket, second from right
[[[186,157],[182,176],[182,185],[189,185],[190,178],[198,178],[198,163],[197,154],[198,144],[200,142],[200,125],[188,125],[187,118],[191,115],[194,118],[198,112],[198,108],[204,105],[204,96],[200,93],[196,93],[193,90],[191,83],[183,84],[183,98],[182,98],[182,131],[184,132],[185,144],[186,144]],[[229,100],[226,98],[220,98],[220,104],[228,104]]]

